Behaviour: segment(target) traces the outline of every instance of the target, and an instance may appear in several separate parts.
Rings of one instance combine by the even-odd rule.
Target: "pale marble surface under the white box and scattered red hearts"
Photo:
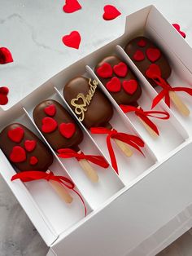
[[[79,0],[83,9],[62,11],[63,0],[0,0],[0,46],[7,46],[14,63],[0,66],[0,86],[9,86],[9,104],[28,95],[60,70],[96,50],[124,31],[124,17],[155,4],[171,23],[181,24],[192,46],[191,0]],[[122,12],[116,20],[102,19],[103,6],[114,4]],[[79,51],[63,45],[72,30],[81,33]],[[41,241],[7,185],[0,181],[0,256],[44,256]],[[71,255],[69,255],[71,256]],[[80,255],[81,256],[81,255]]]

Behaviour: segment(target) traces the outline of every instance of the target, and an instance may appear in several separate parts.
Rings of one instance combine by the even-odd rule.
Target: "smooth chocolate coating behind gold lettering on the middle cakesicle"
[[[79,93],[87,95],[89,93],[89,89],[89,79],[86,77],[73,78],[64,86],[63,96],[74,112],[75,107],[72,106],[71,100],[76,99]],[[82,104],[81,99],[79,100],[80,104]],[[112,115],[113,108],[109,99],[107,99],[103,92],[97,87],[90,104],[87,106],[85,118],[82,123],[87,129],[97,126],[106,127],[108,126],[108,121],[110,121]]]

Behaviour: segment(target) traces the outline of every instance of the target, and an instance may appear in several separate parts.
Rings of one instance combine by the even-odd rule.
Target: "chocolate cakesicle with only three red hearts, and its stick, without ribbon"
[[[83,132],[68,111],[57,101],[47,99],[38,104],[33,110],[33,119],[55,152],[71,149],[77,154],[82,154],[79,144],[84,139]],[[62,157],[61,154],[59,157]],[[86,159],[78,160],[88,178],[97,182],[98,174],[90,166],[89,161]]]

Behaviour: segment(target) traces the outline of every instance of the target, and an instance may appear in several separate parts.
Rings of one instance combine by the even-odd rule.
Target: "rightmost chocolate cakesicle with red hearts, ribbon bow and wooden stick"
[[[130,59],[133,60],[133,63],[136,64],[137,68],[142,72],[152,86],[161,86],[163,88],[162,93],[159,95],[161,96],[161,99],[165,97],[165,101],[168,106],[168,97],[170,97],[182,115],[190,115],[189,108],[185,106],[175,91],[185,91],[192,95],[192,89],[182,89],[182,87],[174,88],[168,84],[167,79],[172,73],[172,68],[168,63],[164,52],[161,51],[154,42],[151,42],[150,39],[145,37],[133,38],[133,40],[125,46],[124,51],[129,55]],[[157,103],[159,100],[160,99],[158,99]],[[153,104],[153,106],[155,106],[155,104]]]

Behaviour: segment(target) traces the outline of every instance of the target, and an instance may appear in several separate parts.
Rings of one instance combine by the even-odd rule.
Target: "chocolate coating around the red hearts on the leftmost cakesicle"
[[[20,140],[20,143],[15,143],[8,137],[8,131],[13,130],[17,127],[20,127],[24,130],[24,137]],[[6,157],[11,161],[10,156],[12,152],[12,148],[15,146],[20,146],[24,148],[24,142],[26,140],[35,140],[36,141],[36,147],[33,149],[32,152],[26,152],[26,160],[22,162],[12,162],[13,165],[21,171],[28,171],[28,170],[38,170],[38,171],[46,171],[49,169],[49,166],[52,165],[54,159],[53,155],[50,152],[50,149],[46,147],[44,143],[41,142],[41,139],[39,139],[36,135],[33,134],[31,130],[28,130],[27,127],[20,125],[19,123],[11,124],[4,128],[2,132],[0,133],[0,148],[2,149],[2,152],[6,155]],[[31,165],[29,163],[31,157],[37,157],[37,164]]]

